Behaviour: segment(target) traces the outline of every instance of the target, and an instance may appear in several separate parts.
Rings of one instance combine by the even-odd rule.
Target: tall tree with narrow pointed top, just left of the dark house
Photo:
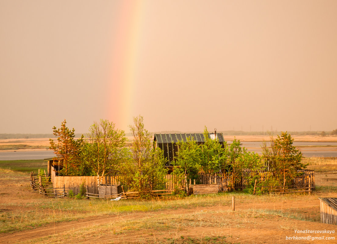
[[[128,181],[142,197],[165,183],[167,169],[162,150],[155,148],[151,134],[145,129],[143,116],[133,117],[129,126],[134,140],[131,145],[131,162],[124,165],[125,181]],[[132,177],[132,178],[131,178]]]

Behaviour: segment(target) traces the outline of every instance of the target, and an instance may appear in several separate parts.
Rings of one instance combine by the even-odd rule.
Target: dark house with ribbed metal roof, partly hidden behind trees
[[[222,133],[208,133],[209,138],[218,139],[223,144],[224,139]],[[187,138],[195,140],[198,144],[205,143],[203,133],[188,133],[188,134],[154,134],[154,146],[160,147],[164,152],[166,166],[172,166],[171,162],[175,160],[178,152],[178,141],[186,141]]]

